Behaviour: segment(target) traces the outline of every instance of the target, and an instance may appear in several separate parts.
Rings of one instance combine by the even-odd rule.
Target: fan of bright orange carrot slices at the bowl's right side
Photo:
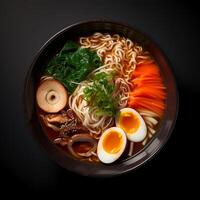
[[[129,93],[128,106],[135,109],[147,109],[162,116],[166,98],[165,86],[155,63],[136,66],[131,81],[133,88]]]

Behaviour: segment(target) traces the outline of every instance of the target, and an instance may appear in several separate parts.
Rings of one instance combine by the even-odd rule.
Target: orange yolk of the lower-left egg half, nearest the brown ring
[[[107,153],[117,153],[122,146],[122,135],[116,131],[107,133],[103,140],[103,149]]]

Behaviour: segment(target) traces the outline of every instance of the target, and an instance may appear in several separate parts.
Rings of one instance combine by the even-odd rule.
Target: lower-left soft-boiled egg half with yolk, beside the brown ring
[[[112,163],[124,152],[126,147],[126,134],[119,127],[107,129],[98,142],[97,155],[101,162]]]

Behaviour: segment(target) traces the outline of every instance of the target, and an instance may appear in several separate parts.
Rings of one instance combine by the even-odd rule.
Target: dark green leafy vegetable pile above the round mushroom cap
[[[68,41],[61,51],[53,57],[45,69],[45,74],[61,81],[69,93],[73,93],[77,83],[83,81],[95,68],[101,65],[96,52],[80,48]]]

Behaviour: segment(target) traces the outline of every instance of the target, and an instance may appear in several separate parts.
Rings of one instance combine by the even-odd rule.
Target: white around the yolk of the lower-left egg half
[[[103,140],[105,138],[105,136],[110,133],[111,131],[115,131],[120,133],[120,135],[122,136],[122,145],[120,150],[117,153],[108,153],[104,150],[103,148]],[[98,146],[97,146],[97,155],[98,158],[101,162],[109,164],[112,163],[114,161],[116,161],[124,152],[125,147],[126,147],[126,142],[127,142],[127,138],[126,138],[126,134],[124,133],[124,131],[119,128],[119,127],[111,127],[109,129],[107,129],[102,135],[101,138],[98,142]]]

